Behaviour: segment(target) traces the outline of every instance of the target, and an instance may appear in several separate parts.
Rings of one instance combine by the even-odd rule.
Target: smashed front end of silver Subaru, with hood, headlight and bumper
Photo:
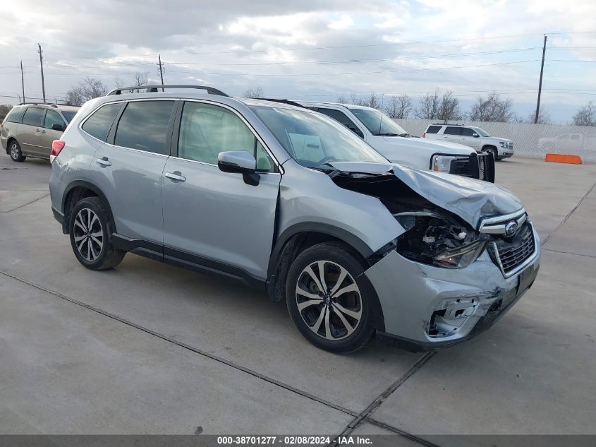
[[[379,198],[403,227],[364,273],[383,309],[381,335],[431,349],[492,326],[537,274],[540,244],[525,210],[485,182],[443,184],[437,174],[401,167],[391,174],[334,175],[338,186]],[[506,234],[510,221],[516,231]]]

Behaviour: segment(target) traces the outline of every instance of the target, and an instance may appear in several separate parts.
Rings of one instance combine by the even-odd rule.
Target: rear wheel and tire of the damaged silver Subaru
[[[109,210],[98,197],[78,201],[68,223],[71,246],[78,261],[91,270],[107,270],[121,263],[125,251],[111,242]]]

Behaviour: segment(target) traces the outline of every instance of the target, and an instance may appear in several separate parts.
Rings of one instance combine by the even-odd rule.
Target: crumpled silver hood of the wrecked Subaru
[[[513,193],[488,181],[389,163],[331,164],[343,172],[382,174],[392,171],[406,186],[427,201],[458,215],[474,228],[480,226],[483,217],[515,213],[523,208],[521,201]]]

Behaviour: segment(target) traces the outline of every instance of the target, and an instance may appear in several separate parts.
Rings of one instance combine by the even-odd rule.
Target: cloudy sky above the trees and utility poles
[[[136,72],[231,95],[413,98],[451,90],[466,109],[478,95],[535,109],[543,35],[542,104],[556,122],[596,100],[594,0],[0,0],[0,102],[61,100],[85,76],[113,88]]]

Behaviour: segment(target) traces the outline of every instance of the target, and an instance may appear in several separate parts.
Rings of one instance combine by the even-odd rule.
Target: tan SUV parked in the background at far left
[[[27,157],[49,160],[51,142],[60,138],[79,107],[55,104],[20,104],[1,124],[2,148],[14,162]]]

